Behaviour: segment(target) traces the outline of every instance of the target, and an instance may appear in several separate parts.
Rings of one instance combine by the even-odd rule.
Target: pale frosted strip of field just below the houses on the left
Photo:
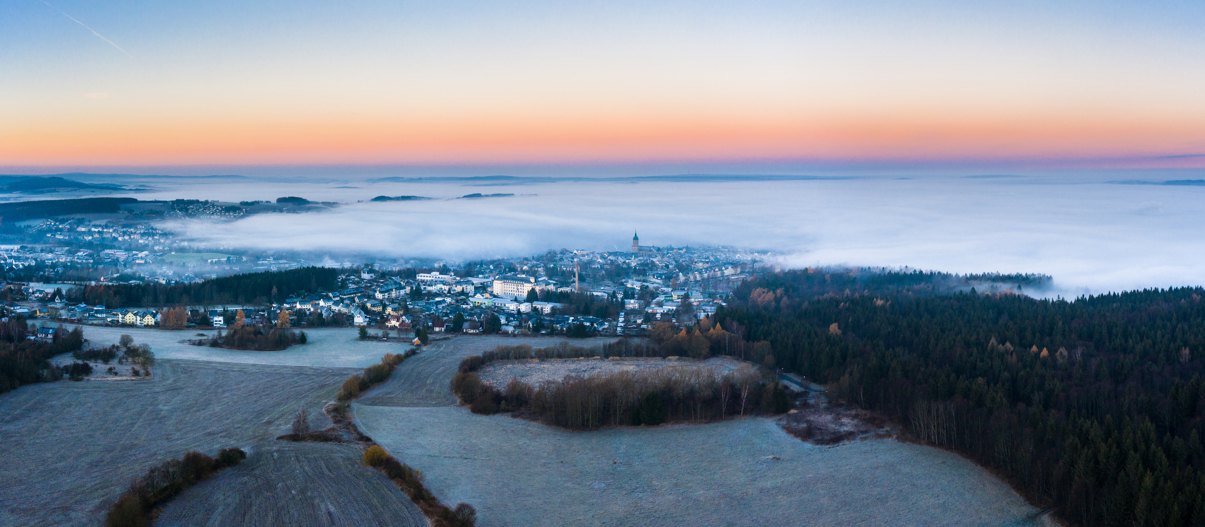
[[[308,339],[306,344],[294,345],[281,351],[242,351],[181,342],[199,338],[196,333],[212,334],[214,331],[83,326],[84,338],[98,348],[117,344],[117,339],[123,333],[134,337],[134,342],[139,344],[151,344],[151,350],[158,359],[246,365],[366,368],[381,362],[381,356],[384,354],[400,354],[410,349],[410,344],[404,341],[360,341],[358,338],[359,331],[354,327],[305,330]]]

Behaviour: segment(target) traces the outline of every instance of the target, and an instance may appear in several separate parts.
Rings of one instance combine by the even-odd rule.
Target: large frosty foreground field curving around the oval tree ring
[[[816,446],[764,418],[566,432],[449,407],[457,363],[490,344],[433,347],[353,404],[364,433],[484,527],[981,526],[1035,513],[962,457],[894,440]]]

